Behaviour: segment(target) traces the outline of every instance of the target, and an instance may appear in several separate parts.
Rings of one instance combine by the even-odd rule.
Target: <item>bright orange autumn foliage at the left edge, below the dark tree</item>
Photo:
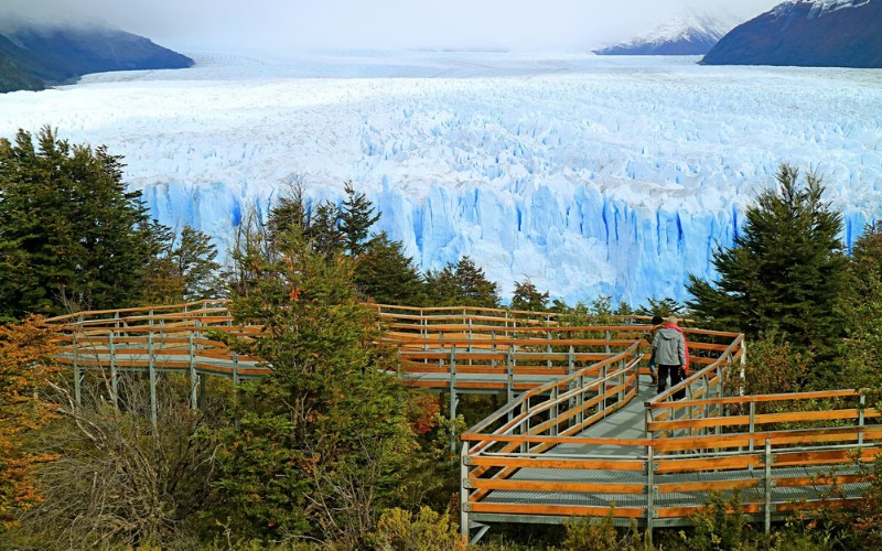
[[[24,433],[53,417],[39,398],[55,370],[52,337],[39,317],[0,326],[0,527],[12,522],[14,508],[40,501],[34,465],[53,458],[21,449]]]

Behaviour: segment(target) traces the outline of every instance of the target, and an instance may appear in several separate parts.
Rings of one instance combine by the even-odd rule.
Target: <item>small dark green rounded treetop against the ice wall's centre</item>
[[[429,300],[437,306],[499,307],[498,285],[469,257],[426,274]]]

